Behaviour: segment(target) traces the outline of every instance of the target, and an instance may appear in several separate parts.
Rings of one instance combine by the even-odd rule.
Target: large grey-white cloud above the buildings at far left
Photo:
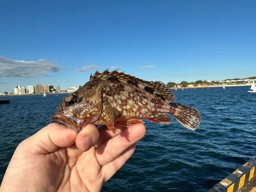
[[[58,72],[64,68],[53,65],[51,60],[12,60],[0,56],[0,77],[46,77],[45,72]]]

